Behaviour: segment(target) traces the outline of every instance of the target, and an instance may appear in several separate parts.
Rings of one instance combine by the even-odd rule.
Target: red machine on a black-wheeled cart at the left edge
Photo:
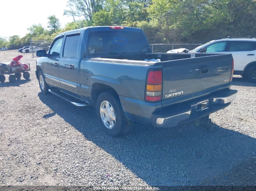
[[[15,82],[16,78],[21,78],[21,72],[23,72],[23,78],[28,79],[30,74],[30,64],[20,62],[22,55],[19,55],[12,59],[10,63],[0,63],[0,82],[5,81],[5,75],[9,75],[9,81]],[[14,74],[14,75],[13,75]]]

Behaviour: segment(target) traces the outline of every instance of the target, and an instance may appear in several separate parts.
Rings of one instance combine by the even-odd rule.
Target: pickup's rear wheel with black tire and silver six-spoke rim
[[[105,110],[105,112],[107,112],[108,116],[106,116],[105,113],[103,115],[101,115],[103,113],[103,111],[101,112],[101,107],[104,106],[104,108],[107,108],[106,105],[104,104],[104,103],[106,103],[105,101],[109,103],[108,110]],[[111,109],[111,107],[112,107],[112,109]],[[113,113],[113,111],[114,111],[114,113]],[[108,135],[120,136],[120,135],[125,135],[128,132],[130,132],[131,120],[129,120],[125,117],[125,113],[122,109],[119,97],[115,92],[112,92],[112,91],[102,92],[99,95],[99,97],[97,99],[97,103],[96,103],[96,112],[97,112],[97,117],[98,117],[101,129],[104,132],[106,132]],[[110,115],[109,115],[109,113],[110,113]],[[111,116],[111,120],[113,120],[114,114],[115,114],[115,121],[111,122],[112,126],[110,125],[109,122],[107,122],[107,123],[103,122],[103,119],[101,116],[103,116],[103,117],[105,116],[105,120],[107,118],[109,119]],[[106,121],[108,121],[108,120],[106,120]],[[114,126],[113,126],[113,123],[114,123]]]

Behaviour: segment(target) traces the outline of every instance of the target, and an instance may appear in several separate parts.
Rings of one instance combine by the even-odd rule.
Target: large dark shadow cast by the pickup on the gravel
[[[41,92],[38,97],[53,111],[44,118],[57,113],[149,185],[256,184],[256,139],[228,127],[156,129],[133,122],[130,134],[111,137],[100,129],[94,107]]]

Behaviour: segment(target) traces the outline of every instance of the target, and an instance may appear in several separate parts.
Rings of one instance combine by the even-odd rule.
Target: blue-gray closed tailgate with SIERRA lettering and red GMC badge
[[[231,76],[232,55],[203,56],[162,63],[162,100],[164,101],[208,88],[212,91],[212,87],[228,83]]]

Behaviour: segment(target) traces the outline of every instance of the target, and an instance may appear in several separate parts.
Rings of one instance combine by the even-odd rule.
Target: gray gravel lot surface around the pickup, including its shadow
[[[0,62],[18,55],[1,51]],[[31,78],[0,84],[0,185],[256,185],[256,84],[234,76],[238,97],[211,126],[133,122],[114,138],[93,107],[43,95],[36,57],[23,56]]]

